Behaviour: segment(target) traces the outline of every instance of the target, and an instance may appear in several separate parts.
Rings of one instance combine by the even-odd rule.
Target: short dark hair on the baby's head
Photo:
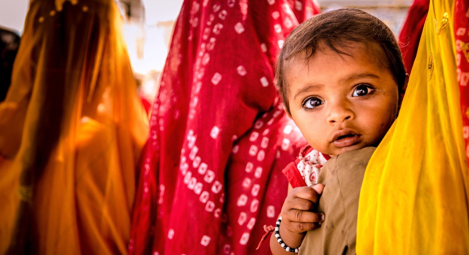
[[[293,29],[283,44],[277,58],[275,83],[289,114],[286,62],[303,51],[306,51],[306,60],[311,58],[319,43],[324,43],[339,54],[348,55],[338,50],[338,46],[347,46],[350,42],[377,43],[386,55],[388,68],[399,89],[402,89],[406,79],[406,69],[399,44],[391,29],[377,17],[362,10],[337,9],[313,16],[303,22]]]

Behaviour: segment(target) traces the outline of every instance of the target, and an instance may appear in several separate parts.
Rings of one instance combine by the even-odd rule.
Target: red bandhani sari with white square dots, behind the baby
[[[268,254],[255,248],[306,144],[273,65],[311,0],[185,0],[140,172],[130,254]]]

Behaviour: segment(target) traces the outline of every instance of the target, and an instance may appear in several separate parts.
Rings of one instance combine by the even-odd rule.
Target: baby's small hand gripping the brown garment
[[[313,212],[319,202],[323,184],[293,189],[282,206],[280,226],[291,233],[303,233],[318,228],[324,221],[324,213]]]

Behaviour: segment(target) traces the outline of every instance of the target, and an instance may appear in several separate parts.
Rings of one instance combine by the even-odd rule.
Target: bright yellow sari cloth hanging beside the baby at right
[[[401,112],[366,169],[357,254],[469,254],[454,1],[432,0]]]

